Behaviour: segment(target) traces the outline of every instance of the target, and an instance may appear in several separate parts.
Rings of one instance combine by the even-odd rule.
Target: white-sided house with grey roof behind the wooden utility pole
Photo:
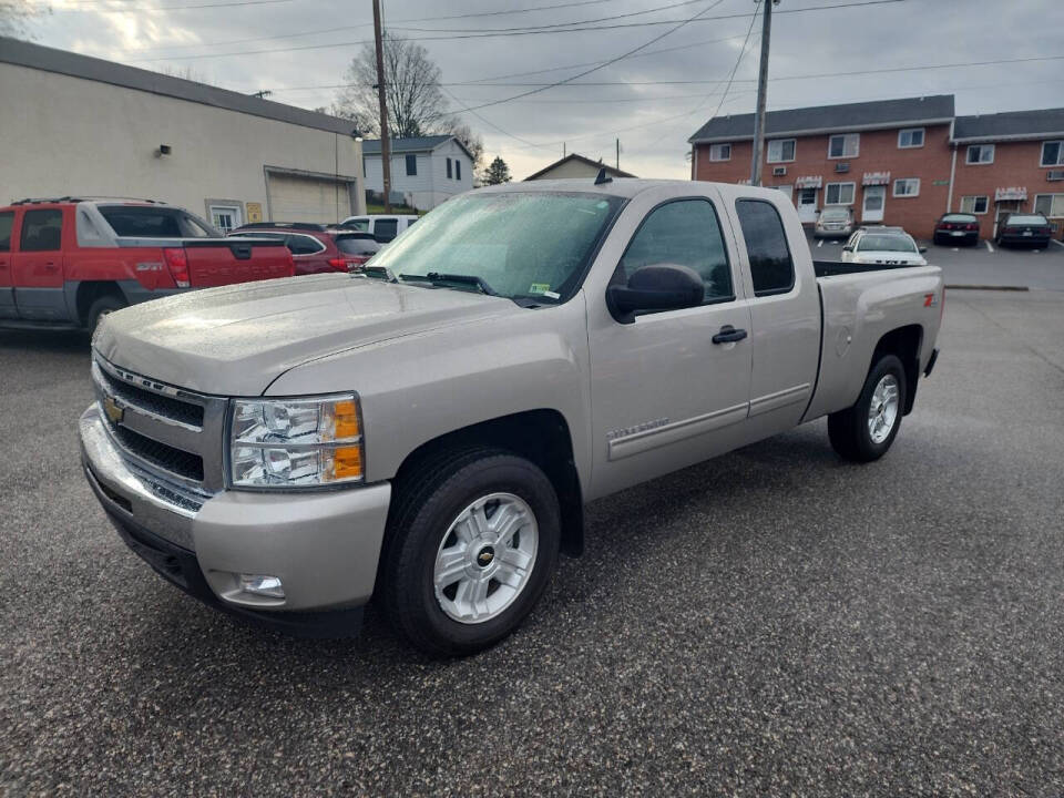
[[[385,191],[380,141],[362,142],[366,188]],[[473,187],[473,157],[454,136],[391,140],[392,202],[430,211],[444,200]]]

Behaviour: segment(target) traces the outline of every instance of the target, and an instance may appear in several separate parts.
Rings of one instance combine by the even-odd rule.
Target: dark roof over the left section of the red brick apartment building
[[[952,120],[953,95],[937,94],[769,111],[765,114],[765,134],[778,137],[809,133],[837,133],[877,127],[904,127],[910,124],[948,124]],[[750,113],[716,116],[699,127],[687,141],[696,144],[753,139],[754,114]]]

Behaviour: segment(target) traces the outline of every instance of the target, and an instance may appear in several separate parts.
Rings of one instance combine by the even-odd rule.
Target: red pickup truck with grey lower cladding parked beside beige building
[[[22,200],[0,207],[0,327],[86,328],[193,288],[290,277],[283,241],[224,238],[152,201]]]

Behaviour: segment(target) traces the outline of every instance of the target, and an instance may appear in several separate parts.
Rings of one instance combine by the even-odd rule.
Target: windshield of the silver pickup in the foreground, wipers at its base
[[[426,215],[374,265],[413,278],[479,277],[511,299],[564,301],[623,204],[622,197],[601,194],[467,194]]]

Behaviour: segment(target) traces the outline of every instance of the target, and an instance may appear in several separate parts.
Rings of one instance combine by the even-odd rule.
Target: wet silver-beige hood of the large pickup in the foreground
[[[324,274],[135,305],[103,319],[93,348],[160,382],[258,396],[318,357],[513,313],[520,309],[501,297]]]

